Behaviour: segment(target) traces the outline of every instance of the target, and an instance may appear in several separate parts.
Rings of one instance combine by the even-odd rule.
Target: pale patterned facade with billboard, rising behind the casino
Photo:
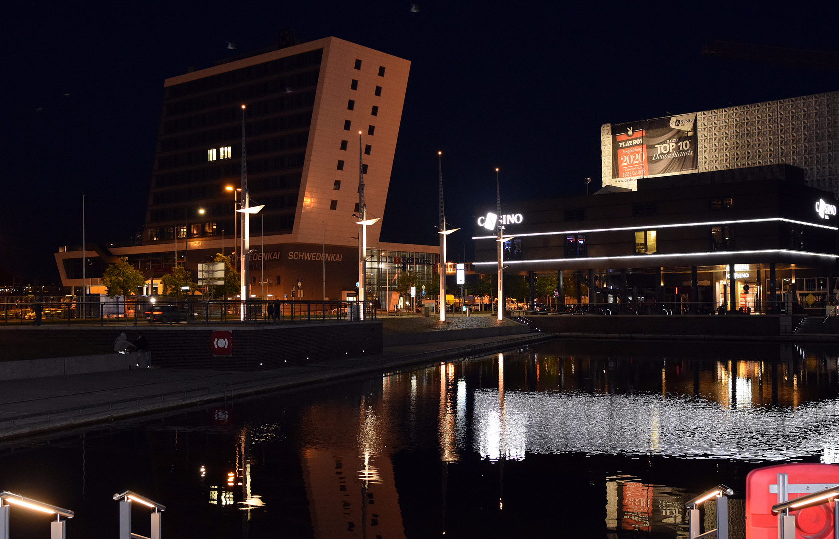
[[[642,147],[646,151],[642,151]],[[839,194],[839,92],[601,127],[603,186],[787,164],[807,186]]]

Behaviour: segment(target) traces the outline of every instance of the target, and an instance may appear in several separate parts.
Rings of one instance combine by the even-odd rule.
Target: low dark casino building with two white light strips
[[[637,178],[636,191],[605,186],[591,196],[511,202],[502,206],[504,236],[513,236],[504,243],[505,273],[531,283],[556,276],[558,291],[572,280],[576,293],[559,302],[601,310],[667,302],[685,312],[768,312],[791,301],[823,312],[836,304],[836,204],[791,165]],[[485,228],[494,212],[485,208],[476,222],[480,273],[497,267],[495,229]]]

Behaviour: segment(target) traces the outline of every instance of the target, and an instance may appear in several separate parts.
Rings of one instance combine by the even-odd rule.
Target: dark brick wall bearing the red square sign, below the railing
[[[214,358],[213,331],[232,332],[232,356]],[[332,358],[382,353],[381,322],[265,327],[0,328],[0,361],[112,353],[121,332],[149,341],[154,364],[185,369],[272,369]],[[260,365],[261,364],[261,365]]]

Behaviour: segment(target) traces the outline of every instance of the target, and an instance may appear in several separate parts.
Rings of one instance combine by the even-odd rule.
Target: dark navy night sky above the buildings
[[[839,50],[839,7],[830,4],[420,1],[409,13],[395,0],[10,3],[0,275],[58,283],[53,253],[81,244],[82,194],[88,241],[133,238],[164,79],[268,47],[279,29],[412,62],[382,239],[437,242],[441,149],[446,214],[465,228],[451,236],[457,251],[475,208],[494,201],[496,166],[503,207],[577,195],[586,176],[600,186],[602,123],[839,90],[839,71],[700,55],[712,39]]]

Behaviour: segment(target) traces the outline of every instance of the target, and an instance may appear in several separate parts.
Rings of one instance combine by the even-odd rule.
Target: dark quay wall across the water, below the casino
[[[706,337],[776,337],[792,335],[804,317],[772,315],[638,316],[559,315],[528,317],[542,332],[591,335],[701,335]]]

